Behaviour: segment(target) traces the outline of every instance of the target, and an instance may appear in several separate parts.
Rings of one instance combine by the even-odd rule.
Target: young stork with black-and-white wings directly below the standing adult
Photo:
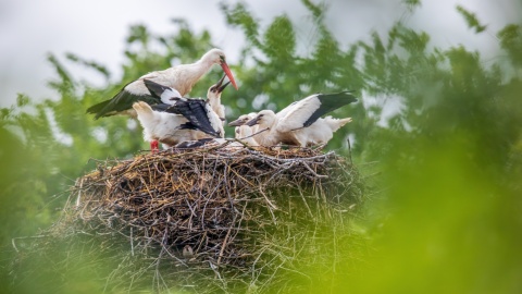
[[[167,97],[173,90],[169,87],[145,79],[150,91],[160,97]],[[161,142],[169,147],[185,140],[208,137],[223,137],[223,124],[212,110],[208,100],[167,98],[171,103],[149,106],[137,101],[133,109],[144,127],[144,138],[148,142]],[[151,149],[156,150],[151,144]]]

